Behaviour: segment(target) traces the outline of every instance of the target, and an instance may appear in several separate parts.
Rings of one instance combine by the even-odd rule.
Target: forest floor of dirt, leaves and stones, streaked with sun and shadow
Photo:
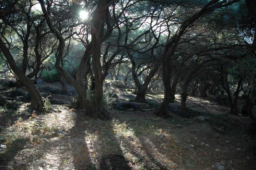
[[[1,96],[14,89],[0,86]],[[118,98],[113,103],[135,97],[127,89],[114,92]],[[229,114],[212,96],[188,96],[191,112],[180,111],[176,96],[169,107],[172,117],[163,119],[154,115],[163,94],[147,94],[149,108],[120,111],[112,106],[111,119],[99,120],[67,107],[74,92],[45,93],[59,103],[47,113],[24,116],[29,102],[23,101],[17,101],[17,109],[0,108],[0,169],[213,170],[221,164],[226,170],[255,170],[250,118]]]

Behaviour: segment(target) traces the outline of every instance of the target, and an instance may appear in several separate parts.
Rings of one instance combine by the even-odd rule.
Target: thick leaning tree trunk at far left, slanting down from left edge
[[[24,84],[30,93],[31,96],[31,105],[30,108],[32,110],[37,111],[43,111],[44,110],[44,102],[42,99],[42,96],[40,95],[37,87],[33,84],[33,82],[22,73],[22,71],[18,68],[16,65],[13,56],[11,55],[10,51],[7,49],[6,45],[0,38],[0,48],[3,51],[6,60],[10,66],[10,68],[13,70],[14,74],[18,77],[18,79],[21,81],[22,84]]]

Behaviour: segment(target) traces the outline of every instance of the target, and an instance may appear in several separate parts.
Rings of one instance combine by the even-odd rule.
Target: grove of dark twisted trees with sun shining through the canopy
[[[167,107],[179,91],[182,109],[188,95],[227,94],[232,114],[240,114],[244,95],[242,114],[256,120],[254,0],[9,0],[0,6],[0,69],[28,88],[33,110],[44,110],[35,84],[51,68],[63,91],[66,82],[76,88],[72,107],[94,118],[109,118],[103,86],[111,78],[136,89],[134,102],[163,90],[160,117],[170,116]]]

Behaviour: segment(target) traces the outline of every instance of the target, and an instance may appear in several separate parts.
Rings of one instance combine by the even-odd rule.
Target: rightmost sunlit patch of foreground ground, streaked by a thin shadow
[[[136,134],[136,130],[130,126],[130,123],[121,123],[118,120],[112,120],[112,123],[115,137],[122,149],[122,154],[130,161],[130,164],[146,169],[180,168],[178,164],[169,159],[170,151],[168,144],[171,142],[167,142],[169,141],[167,135],[165,136],[166,141],[163,144],[162,142],[159,144],[159,141],[154,141],[159,134],[162,134],[163,130],[156,130],[153,125],[149,128],[151,129],[150,132],[148,133],[148,130],[145,129],[147,133],[142,136],[140,132]]]

